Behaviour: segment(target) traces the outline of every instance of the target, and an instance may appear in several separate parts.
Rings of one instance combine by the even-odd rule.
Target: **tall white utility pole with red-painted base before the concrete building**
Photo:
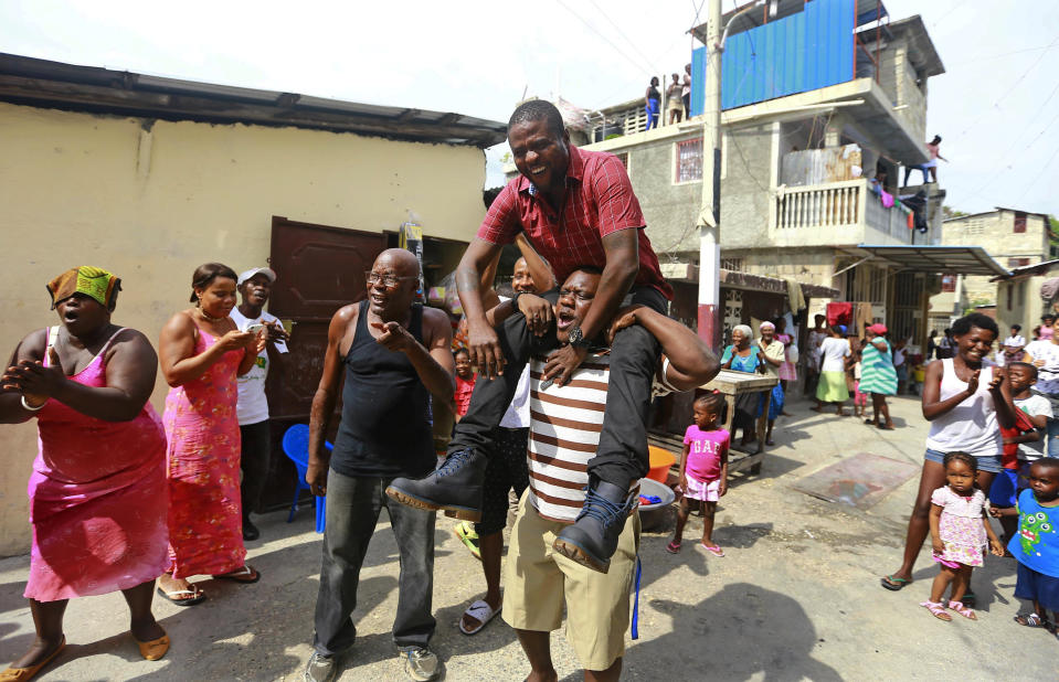
[[[708,0],[706,103],[702,113],[702,205],[699,210],[699,337],[721,345],[721,0]]]

